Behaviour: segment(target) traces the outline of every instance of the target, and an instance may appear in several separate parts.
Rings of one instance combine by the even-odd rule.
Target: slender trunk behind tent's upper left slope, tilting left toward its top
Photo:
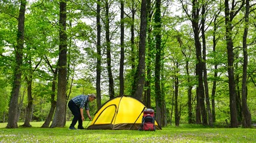
[[[111,70],[111,45],[110,45],[110,32],[109,32],[109,4],[108,0],[105,0],[105,17],[106,17],[106,63],[107,63],[107,69],[108,69],[108,82],[109,82],[109,98],[114,98],[115,92],[114,92],[114,79],[112,76],[112,70]]]

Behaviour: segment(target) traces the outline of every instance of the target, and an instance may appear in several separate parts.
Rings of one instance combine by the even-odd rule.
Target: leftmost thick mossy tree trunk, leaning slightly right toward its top
[[[23,59],[23,45],[24,45],[24,27],[25,27],[25,11],[26,0],[21,0],[19,11],[19,24],[17,32],[17,45],[15,48],[16,64],[14,67],[14,81],[11,90],[11,100],[9,106],[8,124],[6,128],[18,128],[18,98],[20,92],[20,82],[22,80],[22,59]]]

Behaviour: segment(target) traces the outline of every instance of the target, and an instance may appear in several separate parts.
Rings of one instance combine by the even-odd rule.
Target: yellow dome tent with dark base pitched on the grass
[[[115,97],[96,112],[87,129],[139,129],[145,105],[129,96]],[[155,122],[156,129],[161,129]]]

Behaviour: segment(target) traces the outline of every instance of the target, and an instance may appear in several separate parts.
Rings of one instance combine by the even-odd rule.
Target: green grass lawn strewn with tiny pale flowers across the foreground
[[[19,123],[22,125],[23,123]],[[0,143],[4,142],[256,142],[256,129],[203,128],[200,125],[169,126],[155,132],[139,130],[69,130],[39,128],[43,122],[31,122],[32,128],[6,129],[0,123]],[[87,122],[84,123],[84,127]]]

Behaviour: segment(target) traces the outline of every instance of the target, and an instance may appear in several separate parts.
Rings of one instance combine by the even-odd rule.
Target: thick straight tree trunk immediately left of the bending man
[[[67,80],[67,35],[66,35],[66,1],[60,1],[60,43],[59,43],[59,74],[56,112],[51,128],[64,127],[66,123],[66,80]]]

